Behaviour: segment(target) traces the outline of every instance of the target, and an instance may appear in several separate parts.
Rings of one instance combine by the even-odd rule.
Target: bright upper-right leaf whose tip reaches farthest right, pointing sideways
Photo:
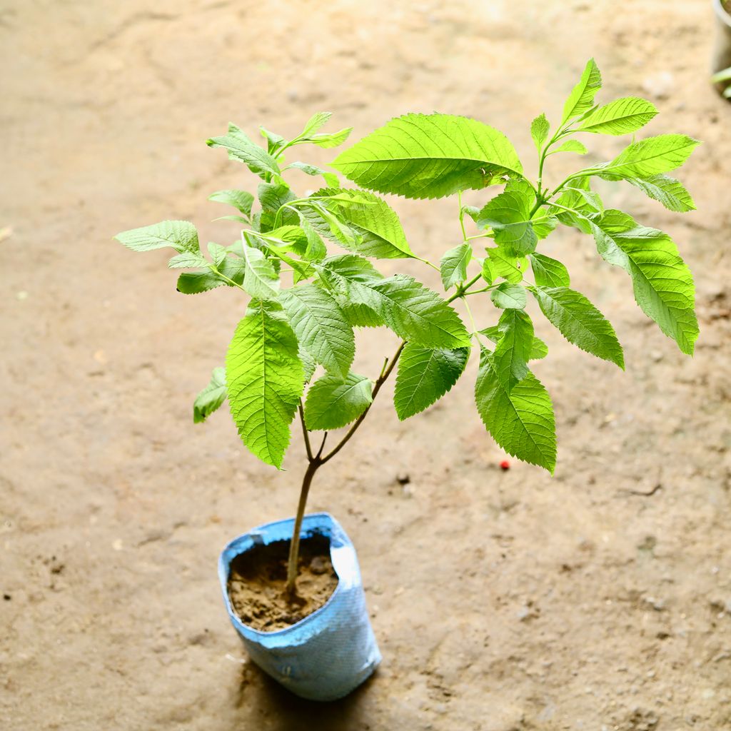
[[[611,162],[596,165],[592,170],[600,178],[648,178],[680,167],[700,145],[687,135],[657,135],[632,143]]]

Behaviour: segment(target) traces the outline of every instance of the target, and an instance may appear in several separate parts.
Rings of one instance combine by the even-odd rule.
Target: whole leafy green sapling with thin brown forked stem
[[[633,96],[597,105],[600,87],[591,60],[558,124],[549,124],[544,114],[534,119],[537,180],[526,175],[505,135],[462,116],[406,114],[371,132],[330,164],[357,186],[350,188],[336,173],[285,161],[285,154],[302,145],[344,143],[350,129],[320,132],[329,113],[314,115],[291,140],[261,128],[266,149],[231,124],[208,145],[223,148],[260,178],[256,196],[221,190],[209,197],[235,209],[225,216],[240,226],[234,243],[209,243],[207,258],[187,221],[163,221],[116,237],[135,251],[175,249],[169,266],[191,270],[178,277],[179,292],[231,287],[249,298],[225,368],[213,371],[193,415],[195,422],[205,420],[228,399],[243,443],[277,468],[292,422],[299,419],[307,465],[289,548],[286,591],[292,601],[312,479],[349,442],[396,368],[394,405],[404,420],[447,393],[476,352],[474,398],[487,431],[506,452],[553,474],[553,407],[530,368],[548,348],[534,335],[526,311],[529,295],[569,342],[624,368],[610,322],[571,288],[561,262],[539,253],[539,243],[559,224],[593,237],[599,256],[628,273],[645,314],[683,353],[692,354],[698,335],[693,280],[675,243],[628,213],[605,209],[591,184],[596,178],[624,181],[670,211],[690,211],[689,193],[666,173],[686,161],[697,140],[686,135],[633,140],[608,162],[547,182],[550,156],[587,153],[577,137],[632,134],[657,113],[651,102]],[[325,186],[295,194],[287,183],[290,170],[321,177]],[[463,191],[492,186],[501,190],[482,208],[463,205]],[[455,197],[460,243],[444,252],[439,265],[429,262],[412,249],[395,211],[376,193]],[[328,251],[331,244],[344,251]],[[439,270],[447,294],[406,274],[383,276],[371,262],[379,259],[414,259]],[[474,322],[468,304],[473,297],[490,298],[492,322]],[[452,308],[456,300],[463,303],[469,325]],[[354,373],[354,328],[381,326],[393,330],[401,344],[375,378]],[[327,450],[328,433],[345,427]],[[317,443],[315,432],[322,434]]]

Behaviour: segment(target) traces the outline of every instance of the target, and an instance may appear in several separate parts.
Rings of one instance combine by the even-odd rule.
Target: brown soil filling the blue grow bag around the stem
[[[338,586],[330,541],[313,536],[300,542],[295,602],[284,596],[289,541],[254,546],[231,561],[228,593],[243,622],[261,632],[284,629],[317,611]]]

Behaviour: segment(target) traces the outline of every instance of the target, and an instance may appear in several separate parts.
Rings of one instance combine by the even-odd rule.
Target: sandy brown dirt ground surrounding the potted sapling
[[[707,0],[0,0],[0,727],[731,729],[731,105],[708,85],[712,35]],[[553,479],[499,470],[474,362],[411,422],[385,389],[310,503],[355,541],[384,662],[346,700],[298,700],[247,662],[216,560],[292,515],[300,439],[277,473],[227,414],[194,427],[243,302],[179,295],[165,252],[110,238],[180,218],[225,243],[235,224],[211,223],[205,197],[253,178],[203,140],[230,120],[288,135],[327,109],[357,139],[409,110],[463,113],[533,170],[531,119],[556,117],[591,55],[601,99],[649,96],[649,131],[704,141],[681,175],[696,212],[606,189],[678,241],[697,354],[645,321],[591,241],[550,238],[616,325],[626,373],[539,325]],[[590,142],[597,159],[624,144]],[[556,179],[576,162],[561,157]],[[458,242],[453,200],[394,205],[415,251]],[[394,344],[368,333],[357,371]]]

